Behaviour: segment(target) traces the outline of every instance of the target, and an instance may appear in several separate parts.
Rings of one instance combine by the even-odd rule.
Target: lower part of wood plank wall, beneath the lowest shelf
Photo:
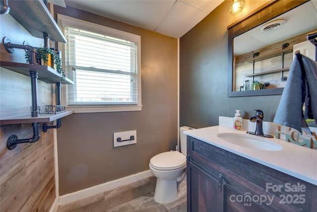
[[[27,139],[33,136],[29,124],[0,127],[0,211],[49,211],[55,200],[53,131],[41,132],[35,143],[6,148],[11,135]]]

